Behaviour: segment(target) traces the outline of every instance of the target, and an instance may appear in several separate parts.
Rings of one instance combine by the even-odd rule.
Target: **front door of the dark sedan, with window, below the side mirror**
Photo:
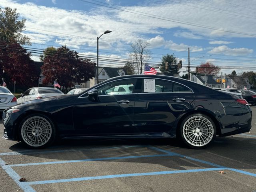
[[[78,98],[74,105],[74,128],[86,135],[120,135],[134,132],[134,103],[136,93],[130,88],[126,94],[112,94],[115,87],[135,88],[136,79],[119,80],[98,88],[98,101]]]

